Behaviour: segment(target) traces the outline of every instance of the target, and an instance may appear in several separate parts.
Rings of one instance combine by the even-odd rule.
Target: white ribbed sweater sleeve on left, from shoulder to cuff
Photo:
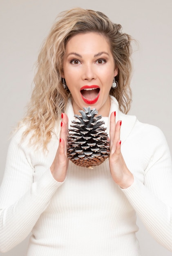
[[[21,134],[18,131],[9,145],[0,187],[0,252],[7,252],[29,235],[62,184],[54,180],[49,168],[33,182],[34,166],[27,155],[27,145],[20,143]]]

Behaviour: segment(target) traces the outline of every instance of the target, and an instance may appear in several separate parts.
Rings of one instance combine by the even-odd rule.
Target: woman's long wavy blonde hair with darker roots
[[[22,120],[27,124],[24,136],[32,131],[34,145],[41,143],[47,147],[56,121],[65,111],[70,92],[62,86],[63,60],[66,43],[76,34],[98,32],[106,36],[118,67],[118,87],[111,89],[110,95],[117,99],[122,112],[128,112],[131,103],[132,38],[121,29],[121,25],[113,23],[100,11],[73,8],[60,13],[38,55],[35,87],[27,115]]]

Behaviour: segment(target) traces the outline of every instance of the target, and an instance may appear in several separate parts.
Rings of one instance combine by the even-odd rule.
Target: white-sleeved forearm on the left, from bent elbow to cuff
[[[7,252],[29,235],[61,184],[48,170],[20,200],[0,209],[0,252]]]

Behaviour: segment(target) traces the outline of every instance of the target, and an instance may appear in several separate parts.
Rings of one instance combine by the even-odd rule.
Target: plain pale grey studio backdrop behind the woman
[[[25,113],[31,95],[42,41],[58,13],[72,7],[103,11],[137,40],[130,114],[161,128],[172,152],[172,0],[0,0],[0,182],[10,132]],[[172,255],[156,243],[139,219],[137,223],[142,256]],[[28,238],[0,256],[24,256],[27,243]]]

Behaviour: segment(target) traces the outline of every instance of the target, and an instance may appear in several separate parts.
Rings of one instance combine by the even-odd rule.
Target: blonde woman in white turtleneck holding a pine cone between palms
[[[138,256],[136,213],[172,251],[170,152],[159,128],[126,115],[130,54],[131,37],[101,12],[71,9],[54,24],[28,114],[9,146],[1,252],[32,232],[27,256]],[[68,125],[88,106],[110,138],[109,159],[94,169],[67,158]]]

